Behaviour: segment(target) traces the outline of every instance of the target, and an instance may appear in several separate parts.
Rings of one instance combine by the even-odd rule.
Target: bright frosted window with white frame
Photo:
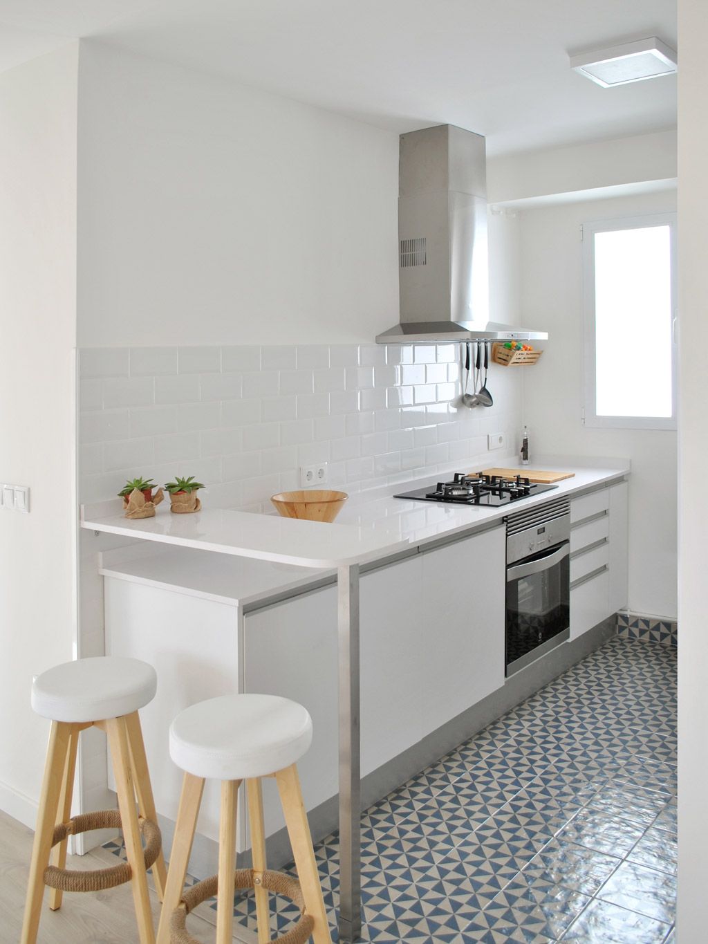
[[[584,224],[585,426],[676,428],[676,214]]]

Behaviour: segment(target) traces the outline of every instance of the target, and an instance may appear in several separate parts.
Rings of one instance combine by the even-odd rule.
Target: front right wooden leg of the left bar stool
[[[109,736],[110,756],[113,762],[118,808],[121,811],[123,837],[126,842],[127,861],[132,878],[135,917],[138,919],[138,934],[141,944],[155,944],[155,929],[150,910],[150,895],[147,890],[147,873],[140,837],[138,811],[135,808],[135,789],[130,770],[130,751],[125,717],[113,717],[106,721]]]

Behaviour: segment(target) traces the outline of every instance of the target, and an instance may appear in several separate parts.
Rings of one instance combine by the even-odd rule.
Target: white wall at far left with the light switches
[[[32,675],[72,658],[77,45],[0,76],[0,806],[34,825],[48,723]]]

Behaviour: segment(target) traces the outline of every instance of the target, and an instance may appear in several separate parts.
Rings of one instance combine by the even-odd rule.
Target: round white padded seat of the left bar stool
[[[42,672],[32,708],[53,721],[99,721],[130,715],[155,698],[158,676],[139,659],[94,656]]]

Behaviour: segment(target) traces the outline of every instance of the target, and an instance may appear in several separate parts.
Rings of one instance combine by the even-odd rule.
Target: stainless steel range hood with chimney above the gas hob
[[[400,136],[400,324],[379,344],[545,339],[489,320],[484,139],[454,125]]]

